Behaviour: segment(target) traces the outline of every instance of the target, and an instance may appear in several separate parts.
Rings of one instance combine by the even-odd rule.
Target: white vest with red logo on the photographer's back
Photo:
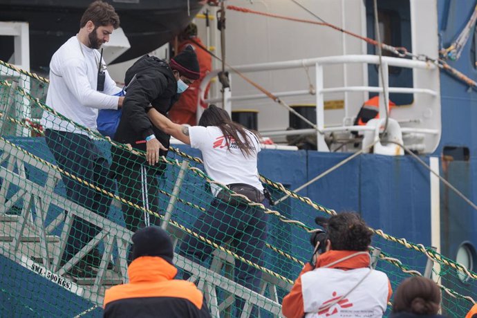
[[[301,275],[305,317],[382,317],[388,301],[389,279],[383,272],[373,270],[368,274],[369,271],[369,268],[317,268]],[[366,274],[368,277],[356,286]],[[355,286],[344,299],[330,308],[322,308],[347,294]]]

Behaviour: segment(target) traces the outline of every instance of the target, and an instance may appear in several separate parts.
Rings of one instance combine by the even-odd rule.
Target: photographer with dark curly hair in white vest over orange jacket
[[[371,268],[373,232],[355,213],[332,216],[326,237],[315,236],[316,264],[306,263],[282,302],[286,317],[382,317],[392,290],[388,277]],[[324,245],[324,246],[323,246]]]

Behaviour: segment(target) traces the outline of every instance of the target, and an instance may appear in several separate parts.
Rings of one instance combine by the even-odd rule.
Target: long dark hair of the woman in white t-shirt
[[[238,149],[242,151],[243,156],[250,156],[252,154],[252,149],[255,149],[250,135],[247,135],[245,132],[245,127],[236,122],[232,122],[229,113],[223,109],[219,109],[214,104],[205,109],[202,116],[200,116],[198,125],[203,127],[216,126],[220,128],[225,140],[227,141],[227,149],[230,150],[231,140],[235,140],[236,145]],[[257,135],[254,131],[250,132]],[[239,135],[242,136],[243,140],[239,138]]]

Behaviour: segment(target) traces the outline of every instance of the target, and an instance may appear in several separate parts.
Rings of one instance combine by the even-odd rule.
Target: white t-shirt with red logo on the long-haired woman
[[[259,141],[250,131],[245,131],[253,144],[250,156],[244,156],[234,140],[230,144],[230,150],[227,149],[227,140],[221,129],[215,126],[189,127],[189,137],[191,147],[202,151],[205,171],[212,179],[224,185],[245,183],[263,191],[263,185],[259,180],[259,170],[256,168],[257,155],[260,151]],[[214,196],[221,189],[213,184],[211,188]]]

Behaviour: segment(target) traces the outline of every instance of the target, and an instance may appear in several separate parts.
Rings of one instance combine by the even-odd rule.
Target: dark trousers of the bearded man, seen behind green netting
[[[45,137],[46,144],[60,169],[101,189],[114,192],[114,182],[108,176],[109,162],[87,135],[46,129]],[[100,216],[108,215],[111,205],[109,196],[64,174],[62,174],[62,180],[69,200]],[[62,261],[71,259],[100,230],[100,227],[74,216]]]

